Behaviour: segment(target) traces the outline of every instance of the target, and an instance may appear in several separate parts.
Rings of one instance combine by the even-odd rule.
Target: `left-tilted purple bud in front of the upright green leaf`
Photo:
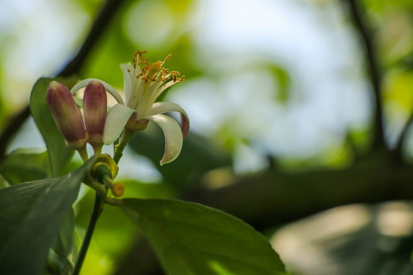
[[[58,82],[50,82],[46,101],[67,147],[74,150],[83,148],[88,142],[88,133],[82,114],[69,89]]]

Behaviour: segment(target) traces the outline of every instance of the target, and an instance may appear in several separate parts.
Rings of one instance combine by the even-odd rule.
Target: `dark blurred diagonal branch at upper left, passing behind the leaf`
[[[66,66],[62,68],[57,76],[67,77],[79,72],[89,52],[98,42],[99,38],[110,23],[110,20],[114,17],[116,11],[119,9],[122,3],[122,0],[106,1],[99,15],[96,17],[96,20],[94,21],[92,28],[90,29],[89,34],[87,35],[78,53],[75,55],[72,61],[68,62]],[[4,157],[9,142],[29,117],[29,115],[30,107],[29,105],[27,105],[20,112],[12,115],[8,119],[8,124],[0,135],[0,158]]]

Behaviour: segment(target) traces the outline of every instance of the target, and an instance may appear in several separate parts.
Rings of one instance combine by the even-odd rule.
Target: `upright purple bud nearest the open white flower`
[[[99,81],[92,81],[86,86],[83,95],[83,113],[89,143],[95,153],[101,153],[103,146],[103,129],[107,113],[107,95],[105,87]]]

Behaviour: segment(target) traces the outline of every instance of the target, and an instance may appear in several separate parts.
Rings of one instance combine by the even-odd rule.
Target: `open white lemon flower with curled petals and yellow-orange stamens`
[[[147,127],[149,121],[158,124],[165,134],[165,153],[161,165],[175,160],[182,149],[182,142],[189,130],[189,118],[185,110],[172,102],[155,102],[156,99],[175,83],[184,81],[184,76],[178,78],[176,71],[169,72],[162,65],[164,61],[150,63],[143,53],[137,50],[133,56],[133,64],[120,64],[123,71],[125,102],[119,93],[109,84],[102,82],[118,102],[107,114],[103,132],[105,145],[112,144],[121,134],[122,130],[138,131]],[[95,79],[86,79],[75,85],[72,93],[85,87]],[[166,112],[179,112],[181,125],[173,118],[163,115]]]

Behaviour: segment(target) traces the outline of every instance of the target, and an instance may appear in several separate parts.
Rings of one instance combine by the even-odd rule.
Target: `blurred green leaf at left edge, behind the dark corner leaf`
[[[0,174],[10,184],[47,178],[50,176],[48,154],[46,151],[16,150],[0,164]]]

